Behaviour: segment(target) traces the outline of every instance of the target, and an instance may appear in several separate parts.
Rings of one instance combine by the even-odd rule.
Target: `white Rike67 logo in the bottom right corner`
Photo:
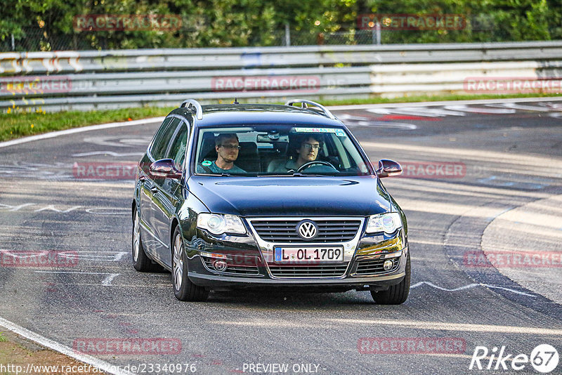
[[[492,370],[492,371],[530,371],[531,365],[536,371],[548,374],[558,366],[558,351],[554,346],[541,344],[531,351],[530,355],[525,353],[506,353],[505,346],[499,349],[497,346],[488,350],[485,346],[476,346],[470,361],[469,370]]]

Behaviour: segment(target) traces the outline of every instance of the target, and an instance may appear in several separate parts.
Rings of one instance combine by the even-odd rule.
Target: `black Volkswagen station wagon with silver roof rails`
[[[181,301],[289,287],[368,290],[377,303],[403,303],[407,223],[380,180],[400,173],[387,159],[375,170],[318,103],[185,100],[138,166],[134,268],[171,271]]]

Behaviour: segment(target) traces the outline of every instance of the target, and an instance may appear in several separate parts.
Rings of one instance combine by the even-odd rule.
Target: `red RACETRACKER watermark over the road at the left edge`
[[[0,250],[1,267],[75,267],[77,251],[14,251]]]

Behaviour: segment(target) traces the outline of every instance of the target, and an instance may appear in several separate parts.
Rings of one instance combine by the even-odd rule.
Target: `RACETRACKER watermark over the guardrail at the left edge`
[[[0,93],[67,93],[72,89],[68,76],[30,76],[0,78]]]

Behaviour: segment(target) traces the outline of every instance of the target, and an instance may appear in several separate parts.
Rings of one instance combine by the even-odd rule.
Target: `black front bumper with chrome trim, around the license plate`
[[[361,221],[355,235],[347,237],[344,242],[330,243],[265,241],[251,224],[247,225],[248,235],[245,236],[216,236],[197,229],[197,235],[185,241],[188,277],[194,284],[209,288],[302,286],[308,289],[334,287],[384,290],[400,283],[405,277],[409,251],[404,230],[397,230],[393,235],[367,235],[365,221],[362,218],[352,219]],[[248,221],[251,223],[252,219]],[[344,251],[344,258],[339,263],[308,265],[273,261],[275,246],[296,245],[339,246]],[[385,270],[383,264],[388,260],[392,261],[392,267]],[[217,268],[216,261],[228,263],[226,270]]]

